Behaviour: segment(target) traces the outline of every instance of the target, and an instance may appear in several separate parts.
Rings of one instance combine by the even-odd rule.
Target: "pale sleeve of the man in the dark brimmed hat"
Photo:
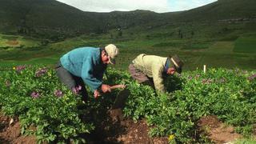
[[[159,67],[156,64],[152,66],[152,75],[155,89],[161,92],[166,92],[166,88],[163,84],[162,71],[162,67]]]

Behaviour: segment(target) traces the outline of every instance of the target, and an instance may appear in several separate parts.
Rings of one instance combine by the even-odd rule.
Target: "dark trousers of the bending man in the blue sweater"
[[[83,82],[82,78],[71,74],[68,70],[66,70],[61,62],[58,62],[57,66],[55,67],[57,72],[57,76],[59,80],[64,83],[70,90],[81,86],[81,90],[78,91],[78,94],[82,96],[82,101],[86,102],[88,99],[88,93],[86,90],[85,83]]]

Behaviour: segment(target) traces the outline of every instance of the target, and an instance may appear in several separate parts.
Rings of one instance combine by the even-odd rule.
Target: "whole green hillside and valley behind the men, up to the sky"
[[[0,0],[0,65],[54,64],[80,46],[120,47],[117,68],[138,54],[178,54],[202,65],[256,69],[256,5],[218,1],[193,10],[83,12],[53,0]]]

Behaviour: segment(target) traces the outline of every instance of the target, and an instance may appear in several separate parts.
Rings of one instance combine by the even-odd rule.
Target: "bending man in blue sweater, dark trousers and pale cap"
[[[118,48],[113,44],[104,48],[81,47],[64,54],[56,66],[58,78],[75,94],[87,98],[85,84],[94,92],[94,98],[103,93],[111,92],[109,85],[102,83],[107,64],[114,64]]]

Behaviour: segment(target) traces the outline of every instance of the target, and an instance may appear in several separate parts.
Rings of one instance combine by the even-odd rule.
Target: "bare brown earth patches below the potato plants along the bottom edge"
[[[148,132],[150,128],[145,120],[134,123],[130,119],[122,118],[120,110],[112,110],[109,113],[110,121],[102,122],[96,127],[93,133],[83,135],[88,143],[149,143],[165,144],[168,138],[150,138]],[[22,136],[20,133],[20,123],[17,118],[12,124],[10,118],[0,114],[0,143],[36,143],[34,136]],[[219,121],[216,116],[206,116],[198,121],[198,129],[203,131],[211,142],[226,143],[234,142],[237,138],[242,138],[241,134],[234,132],[234,127],[226,126]]]

